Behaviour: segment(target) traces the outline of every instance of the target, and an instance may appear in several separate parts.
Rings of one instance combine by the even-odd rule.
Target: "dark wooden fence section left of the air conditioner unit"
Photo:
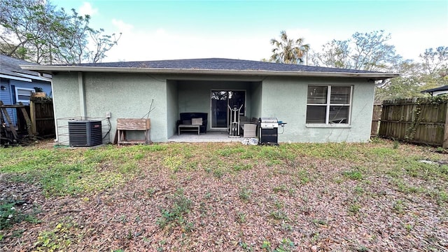
[[[55,137],[55,113],[48,98],[34,98],[29,102],[33,134],[39,137]]]

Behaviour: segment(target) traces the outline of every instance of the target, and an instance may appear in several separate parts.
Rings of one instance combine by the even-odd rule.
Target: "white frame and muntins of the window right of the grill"
[[[351,125],[351,104],[353,99],[353,85],[308,85],[308,87],[327,87],[327,97],[326,97],[326,103],[325,104],[309,104],[308,103],[308,93],[307,93],[307,108],[308,106],[326,106],[325,110],[325,123],[307,123],[307,125]],[[307,87],[307,90],[308,90]],[[332,104],[331,102],[331,87],[350,87],[350,98],[349,98],[349,104]],[[330,107],[331,106],[348,106],[349,107],[349,118],[347,118],[346,123],[333,123],[330,122]],[[305,116],[305,122],[307,120],[308,116],[308,109],[307,114]]]

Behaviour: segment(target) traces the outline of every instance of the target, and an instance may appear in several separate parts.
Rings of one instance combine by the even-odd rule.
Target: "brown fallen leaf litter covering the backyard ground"
[[[244,151],[220,152],[235,144],[167,144],[145,153],[126,183],[59,197],[3,174],[1,197],[37,206],[39,222],[1,230],[0,251],[447,251],[447,176],[409,176],[368,154],[391,145],[344,144],[362,149],[356,158],[316,157],[297,145],[285,147],[293,158],[247,160]],[[173,149],[193,168],[167,165]],[[428,147],[397,152],[444,158]],[[236,170],[235,162],[251,166]],[[346,175],[353,171],[362,176]]]

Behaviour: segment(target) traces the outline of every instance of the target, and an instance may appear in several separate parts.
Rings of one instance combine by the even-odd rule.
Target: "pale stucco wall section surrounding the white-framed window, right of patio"
[[[350,125],[306,125],[308,85],[353,85]],[[262,117],[288,123],[281,142],[362,142],[370,139],[374,83],[341,78],[267,78],[262,83]],[[279,129],[281,132],[281,128]]]

